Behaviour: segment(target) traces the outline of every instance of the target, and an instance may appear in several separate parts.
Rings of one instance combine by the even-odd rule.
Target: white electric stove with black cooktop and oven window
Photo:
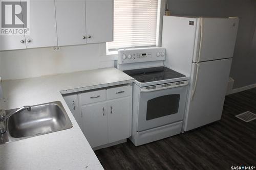
[[[165,67],[165,48],[118,51],[118,69],[135,79],[131,140],[141,145],[181,133],[189,77]]]

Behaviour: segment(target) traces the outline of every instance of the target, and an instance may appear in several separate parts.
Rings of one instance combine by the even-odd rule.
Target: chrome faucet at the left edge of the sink
[[[31,111],[31,106],[23,106],[21,108],[19,108],[18,110],[12,112],[11,114],[9,114],[8,116],[6,116],[6,112],[5,110],[0,110],[0,134],[3,134],[6,132],[6,120],[11,117],[13,114],[22,112],[23,110],[28,110]]]

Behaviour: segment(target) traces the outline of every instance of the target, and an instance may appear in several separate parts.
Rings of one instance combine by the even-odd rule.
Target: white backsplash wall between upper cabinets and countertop
[[[80,70],[113,67],[113,61],[103,61],[105,44],[32,48],[0,52],[0,76],[3,80],[24,79]]]

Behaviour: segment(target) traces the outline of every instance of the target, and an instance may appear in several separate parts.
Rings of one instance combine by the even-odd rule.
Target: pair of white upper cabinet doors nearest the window
[[[58,45],[113,41],[113,0],[55,0]]]

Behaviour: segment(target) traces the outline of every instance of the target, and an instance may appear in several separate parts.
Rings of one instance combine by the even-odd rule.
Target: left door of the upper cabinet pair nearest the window
[[[56,0],[58,45],[86,43],[85,0]]]

